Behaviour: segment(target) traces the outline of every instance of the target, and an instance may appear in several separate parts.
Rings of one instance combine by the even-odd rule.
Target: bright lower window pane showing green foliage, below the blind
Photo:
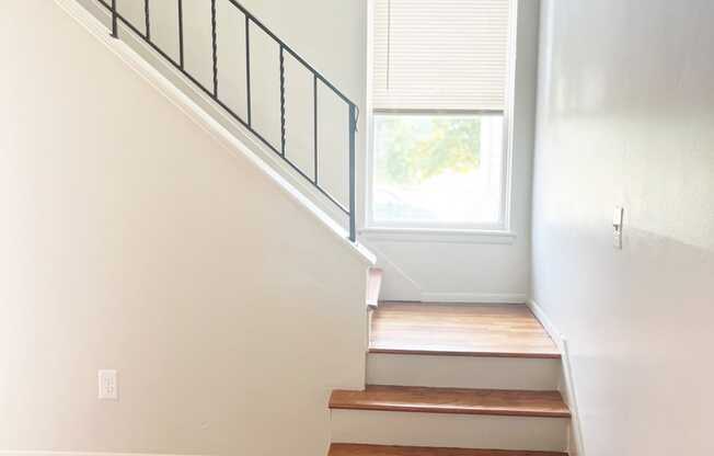
[[[503,132],[500,115],[375,114],[375,223],[502,223]]]

